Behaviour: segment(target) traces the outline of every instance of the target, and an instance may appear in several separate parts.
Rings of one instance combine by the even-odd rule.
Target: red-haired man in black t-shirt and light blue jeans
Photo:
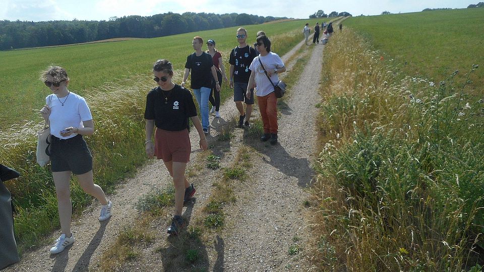
[[[210,97],[210,90],[212,90],[212,77],[218,79],[215,66],[213,66],[212,56],[202,51],[203,40],[201,37],[196,36],[193,38],[194,53],[187,57],[185,63],[185,74],[183,75],[183,82],[181,87],[185,87],[185,81],[192,71],[191,88],[197,99],[198,106],[200,108],[200,114],[202,115],[202,127],[205,134],[208,133],[208,127],[210,123],[208,121],[208,99]],[[215,82],[217,92],[220,91],[220,85]]]

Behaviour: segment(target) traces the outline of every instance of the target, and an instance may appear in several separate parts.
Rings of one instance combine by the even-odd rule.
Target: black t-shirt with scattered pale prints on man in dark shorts
[[[256,50],[250,45],[243,48],[238,48],[237,46],[232,49],[228,62],[234,66],[233,82],[249,82],[249,78],[251,77],[249,66],[256,56]]]

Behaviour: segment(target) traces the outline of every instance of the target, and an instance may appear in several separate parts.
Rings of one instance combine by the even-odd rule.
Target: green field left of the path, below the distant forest
[[[306,22],[314,25],[316,20],[246,26],[248,43],[255,42],[258,30],[264,30],[271,38],[302,29]],[[181,78],[186,57],[193,52],[191,43],[196,35],[201,36],[204,42],[214,39],[217,49],[226,59],[224,65],[228,67],[228,53],[237,45],[236,29],[217,29],[153,39],[0,51],[0,101],[8,101],[7,107],[0,108],[3,117],[0,120],[0,131],[12,124],[23,124],[23,120],[40,121],[36,110],[45,103],[45,97],[50,91],[38,79],[43,69],[50,64],[63,66],[67,70],[71,78],[70,90],[80,95],[92,94],[94,88],[106,82],[123,82],[134,74],[150,76],[153,62],[159,58],[169,59],[174,69],[178,70],[177,76]],[[302,34],[300,37],[302,39]],[[286,44],[291,43],[281,39],[274,44],[273,51],[279,54],[287,52],[289,48],[285,48]]]

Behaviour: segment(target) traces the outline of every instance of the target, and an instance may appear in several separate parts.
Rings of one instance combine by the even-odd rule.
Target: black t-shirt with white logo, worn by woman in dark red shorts
[[[188,118],[196,115],[192,94],[179,85],[175,84],[169,91],[156,87],[146,96],[145,119],[155,120],[160,129],[184,130],[189,126]]]

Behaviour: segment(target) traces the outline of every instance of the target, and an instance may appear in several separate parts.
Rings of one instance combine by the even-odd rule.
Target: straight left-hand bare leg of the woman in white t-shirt
[[[61,221],[61,231],[66,237],[71,237],[71,218],[72,202],[70,180],[71,171],[52,172],[55,184],[55,194],[57,195],[57,209],[59,211],[59,221]]]

